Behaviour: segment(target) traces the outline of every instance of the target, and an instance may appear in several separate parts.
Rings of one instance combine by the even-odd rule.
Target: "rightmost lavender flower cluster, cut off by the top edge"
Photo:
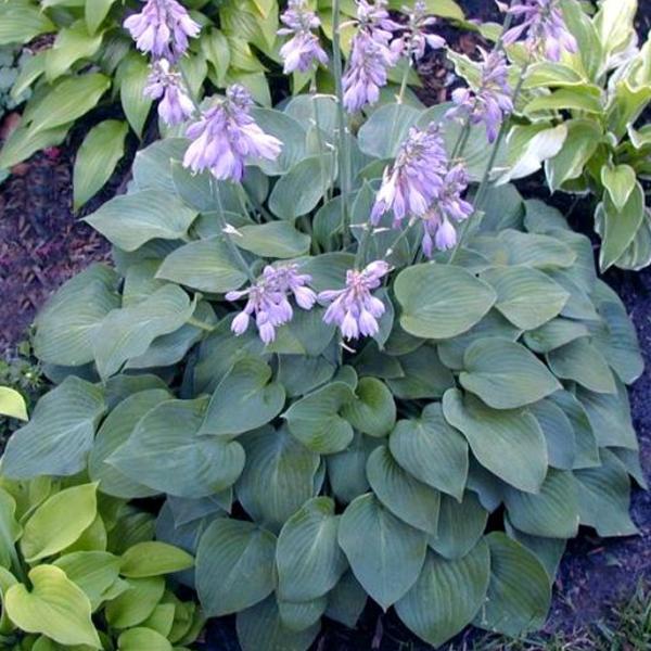
[[[507,44],[515,42],[523,34],[532,51],[544,50],[550,61],[559,61],[562,50],[578,51],[576,39],[565,25],[559,0],[522,0],[508,10],[523,22],[505,35]]]

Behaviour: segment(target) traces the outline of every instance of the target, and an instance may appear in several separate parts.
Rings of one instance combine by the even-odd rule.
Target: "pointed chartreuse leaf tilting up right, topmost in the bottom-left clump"
[[[55,554],[81,536],[97,515],[97,489],[98,484],[73,486],[36,509],[21,537],[21,551],[28,563]]]

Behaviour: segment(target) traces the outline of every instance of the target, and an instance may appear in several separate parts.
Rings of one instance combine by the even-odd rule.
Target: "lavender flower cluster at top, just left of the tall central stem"
[[[290,0],[280,20],[286,27],[279,29],[278,34],[292,35],[280,49],[285,75],[295,71],[306,73],[315,63],[328,64],[328,54],[321,47],[319,37],[312,34],[312,29],[321,26],[321,21],[306,7],[305,0]]]

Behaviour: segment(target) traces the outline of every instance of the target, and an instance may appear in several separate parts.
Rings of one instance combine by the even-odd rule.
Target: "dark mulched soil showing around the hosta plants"
[[[468,15],[496,20],[493,2],[461,2]],[[651,2],[640,2],[639,33],[651,26]],[[470,33],[442,29],[457,49],[471,53],[477,43]],[[424,78],[419,92],[429,104],[448,97],[449,66],[436,53],[422,63]],[[0,186],[0,355],[25,336],[38,308],[65,280],[92,261],[108,258],[107,243],[72,212],[72,158],[76,146],[39,153],[20,166]],[[107,190],[88,210],[119,191],[126,179],[119,169]],[[586,224],[590,217],[586,216]],[[622,296],[640,340],[643,375],[630,392],[641,461],[651,482],[651,270],[639,273],[612,272],[607,281]],[[577,630],[608,614],[613,602],[630,595],[641,578],[651,579],[651,494],[633,492],[633,519],[640,535],[601,539],[591,531],[570,541],[556,584],[554,600],[546,630]],[[476,634],[461,634],[448,649],[472,648]],[[469,647],[470,646],[470,647]],[[204,647],[237,651],[233,617],[212,622]],[[358,628],[350,631],[327,622],[315,642],[315,651],[425,651],[431,649],[410,634],[391,612],[369,607]]]

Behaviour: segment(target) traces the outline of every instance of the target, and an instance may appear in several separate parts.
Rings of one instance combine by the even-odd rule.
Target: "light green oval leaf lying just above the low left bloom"
[[[243,226],[233,235],[233,242],[260,257],[292,258],[309,253],[309,235],[296,230],[288,221],[269,221]]]

